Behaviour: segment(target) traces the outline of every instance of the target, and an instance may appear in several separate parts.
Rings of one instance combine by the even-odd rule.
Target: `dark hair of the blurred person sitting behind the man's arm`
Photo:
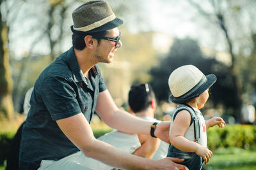
[[[129,91],[128,103],[134,113],[143,111],[150,106],[152,99],[156,99],[150,85],[132,85]]]

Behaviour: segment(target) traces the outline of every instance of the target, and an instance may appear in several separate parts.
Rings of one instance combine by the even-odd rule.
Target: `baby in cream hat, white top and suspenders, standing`
[[[175,69],[169,77],[172,93],[170,100],[178,104],[170,125],[170,141],[167,157],[185,159],[183,164],[189,168],[202,169],[209,162],[212,152],[207,148],[206,131],[209,127],[223,127],[225,122],[220,117],[204,120],[201,108],[209,97],[209,87],[216,81],[214,74],[204,75],[192,65]]]

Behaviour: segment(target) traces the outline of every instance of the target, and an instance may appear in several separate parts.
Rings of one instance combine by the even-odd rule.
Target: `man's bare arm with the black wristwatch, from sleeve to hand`
[[[152,122],[135,117],[126,111],[119,110],[114,103],[108,90],[100,92],[96,112],[102,120],[114,129],[132,134],[150,134]],[[170,122],[157,124],[155,136],[170,143],[169,138]]]

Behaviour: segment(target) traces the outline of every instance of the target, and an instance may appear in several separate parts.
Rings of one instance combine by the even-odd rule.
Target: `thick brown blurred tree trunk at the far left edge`
[[[1,2],[1,1],[0,1]],[[1,4],[1,3],[0,3]],[[2,15],[0,13],[0,18]],[[0,22],[0,120],[13,118],[12,74],[8,53],[8,31],[6,22]]]

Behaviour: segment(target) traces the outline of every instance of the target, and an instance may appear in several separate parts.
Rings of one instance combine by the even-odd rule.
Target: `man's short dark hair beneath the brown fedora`
[[[72,44],[73,47],[77,50],[83,50],[86,47],[86,44],[84,43],[84,37],[85,36],[92,36],[93,38],[97,39],[98,43],[100,43],[100,40],[102,37],[106,36],[108,31],[100,31],[100,32],[84,32],[84,33],[76,33],[74,32],[72,34]]]

